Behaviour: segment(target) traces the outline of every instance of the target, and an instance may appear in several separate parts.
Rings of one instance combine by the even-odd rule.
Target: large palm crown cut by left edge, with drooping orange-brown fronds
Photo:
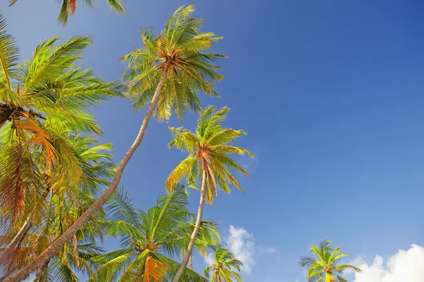
[[[100,134],[88,108],[121,95],[119,82],[105,83],[93,70],[76,66],[90,37],[64,44],[58,39],[40,42],[18,64],[18,47],[0,15],[0,203],[11,220],[23,217],[25,190],[42,188],[34,152],[44,154],[46,167],[60,165],[78,178],[78,159],[69,153],[64,132]]]

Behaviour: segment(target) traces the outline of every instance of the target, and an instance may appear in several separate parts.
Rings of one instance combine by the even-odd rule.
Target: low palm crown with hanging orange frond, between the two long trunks
[[[187,204],[182,185],[146,212],[136,209],[128,195],[118,190],[108,206],[111,221],[106,230],[108,235],[119,236],[122,249],[94,257],[100,268],[90,281],[162,281],[175,274],[179,263],[173,258],[187,245],[188,234],[194,229]],[[197,243],[212,244],[216,235],[216,224],[202,221]],[[184,279],[206,281],[190,269]]]

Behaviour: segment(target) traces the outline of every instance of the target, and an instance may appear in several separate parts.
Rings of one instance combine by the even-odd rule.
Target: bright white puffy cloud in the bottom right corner
[[[354,282],[422,282],[424,281],[424,247],[411,245],[409,250],[399,250],[387,263],[377,255],[372,264],[358,258],[356,264],[363,272],[355,274]]]

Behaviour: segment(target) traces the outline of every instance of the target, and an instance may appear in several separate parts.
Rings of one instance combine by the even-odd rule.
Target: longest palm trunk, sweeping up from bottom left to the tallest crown
[[[59,249],[68,242],[72,236],[79,230],[83,225],[90,219],[95,212],[104,204],[107,199],[110,198],[110,196],[113,195],[115,190],[117,190],[119,180],[122,178],[122,173],[124,173],[124,168],[126,164],[128,164],[131,157],[134,155],[134,152],[136,152],[136,149],[139,147],[141,141],[143,140],[144,133],[146,133],[146,128],[148,125],[148,122],[150,121],[150,118],[153,114],[153,110],[156,107],[156,104],[158,102],[158,99],[160,97],[160,92],[162,91],[163,85],[165,83],[165,79],[167,77],[167,71],[170,67],[170,63],[167,63],[165,65],[165,68],[163,69],[163,73],[160,76],[160,80],[158,83],[158,86],[155,89],[155,94],[153,94],[153,98],[151,101],[151,104],[148,106],[148,110],[146,112],[146,116],[144,116],[143,123],[141,123],[141,127],[139,130],[139,134],[136,137],[136,140],[134,140],[133,145],[129,148],[128,152],[126,152],[124,158],[119,163],[119,166],[117,168],[117,173],[115,174],[112,183],[110,183],[109,188],[105,190],[102,196],[98,198],[97,201],[95,201],[94,204],[89,207],[86,212],[84,212],[79,219],[77,219],[71,227],[68,228],[57,240],[52,243],[49,247],[47,247],[44,252],[41,253],[36,259],[33,260],[30,264],[25,266],[23,269],[18,271],[15,275],[13,275],[11,278],[7,280],[7,282],[18,282],[25,279],[28,275],[30,275],[33,271],[39,269],[45,262],[47,262],[51,257],[56,254]]]

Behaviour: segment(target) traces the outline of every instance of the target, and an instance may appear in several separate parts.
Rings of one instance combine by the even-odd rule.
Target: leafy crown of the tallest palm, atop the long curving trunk
[[[166,79],[155,108],[155,116],[160,120],[170,118],[172,109],[179,119],[187,109],[199,111],[198,92],[218,96],[213,87],[223,76],[216,73],[220,67],[213,62],[225,56],[204,51],[222,37],[199,32],[203,20],[193,18],[193,11],[193,6],[178,8],[159,34],[141,29],[144,47],[122,58],[129,66],[124,80],[129,81],[134,109],[151,102],[164,74]]]

